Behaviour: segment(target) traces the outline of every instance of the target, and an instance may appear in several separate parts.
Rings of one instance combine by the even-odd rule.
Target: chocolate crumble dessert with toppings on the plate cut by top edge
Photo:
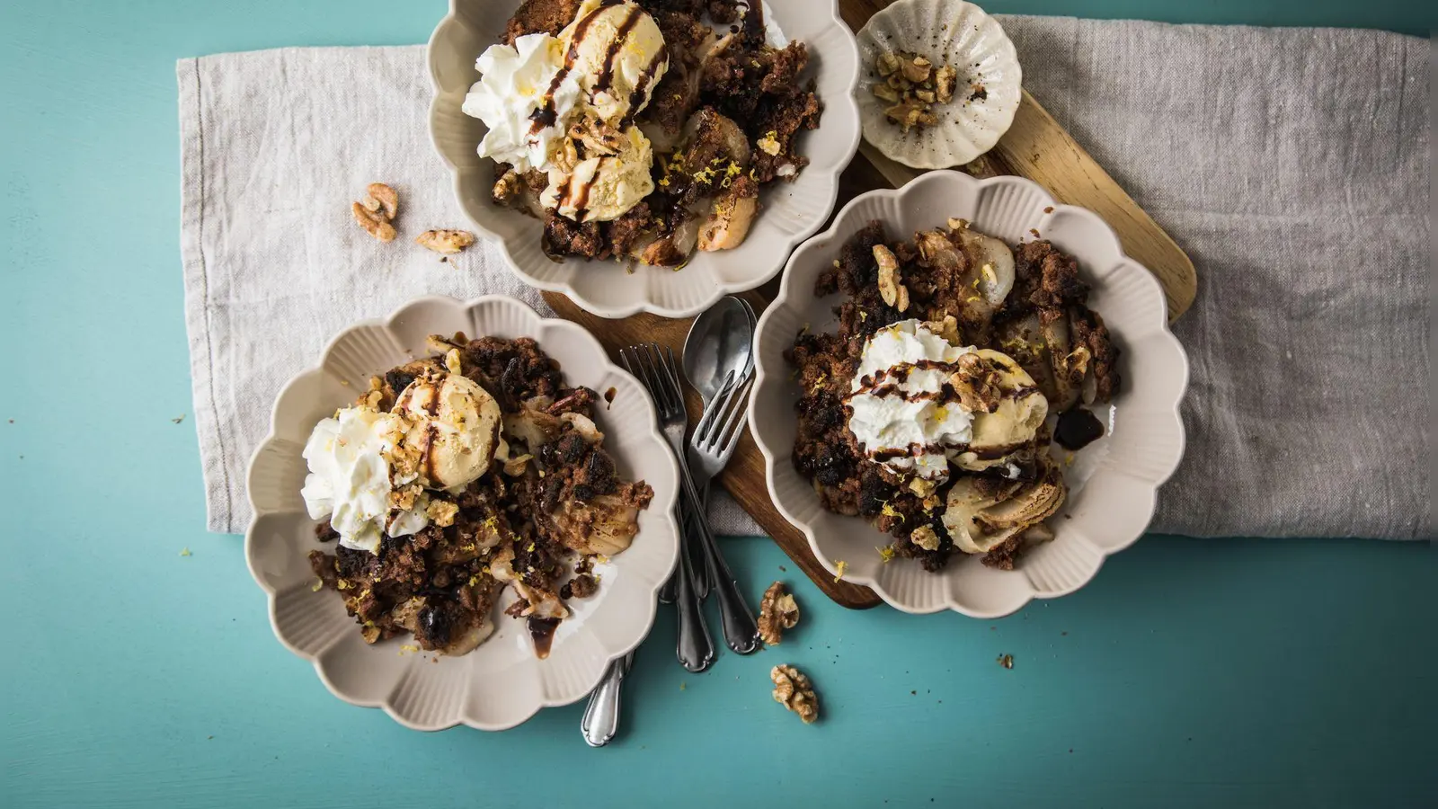
[[[489,130],[495,202],[544,222],[546,255],[679,268],[741,245],[759,189],[807,164],[807,63],[761,3],[525,0],[463,109]]]

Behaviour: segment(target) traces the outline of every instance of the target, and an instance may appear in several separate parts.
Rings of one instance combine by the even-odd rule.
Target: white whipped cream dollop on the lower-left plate
[[[391,461],[404,440],[407,420],[372,407],[345,407],[309,433],[303,458],[309,475],[301,497],[311,520],[329,517],[339,544],[380,551],[384,534],[403,537],[429,524],[427,498],[394,508]]]

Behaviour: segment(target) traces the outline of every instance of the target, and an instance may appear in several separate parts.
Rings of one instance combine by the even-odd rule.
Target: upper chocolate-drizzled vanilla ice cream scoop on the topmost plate
[[[627,0],[585,0],[559,40],[590,105],[610,124],[638,114],[669,71],[659,23]]]

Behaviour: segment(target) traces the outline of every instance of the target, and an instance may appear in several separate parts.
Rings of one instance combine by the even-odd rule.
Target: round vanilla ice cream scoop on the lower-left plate
[[[499,445],[499,402],[460,374],[420,377],[406,387],[394,412],[408,416],[406,445],[418,452],[420,482],[463,489],[489,471]]]

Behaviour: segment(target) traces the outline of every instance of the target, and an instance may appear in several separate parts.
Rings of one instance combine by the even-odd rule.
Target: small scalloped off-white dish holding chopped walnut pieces
[[[907,134],[884,118],[889,107],[871,92],[881,53],[909,50],[959,71],[953,101],[935,107],[939,124]],[[994,148],[1008,131],[1022,96],[1022,71],[1014,43],[998,20],[962,0],[899,0],[858,32],[858,117],[864,140],[890,160],[915,168],[962,166]],[[969,101],[971,83],[986,98]]]

